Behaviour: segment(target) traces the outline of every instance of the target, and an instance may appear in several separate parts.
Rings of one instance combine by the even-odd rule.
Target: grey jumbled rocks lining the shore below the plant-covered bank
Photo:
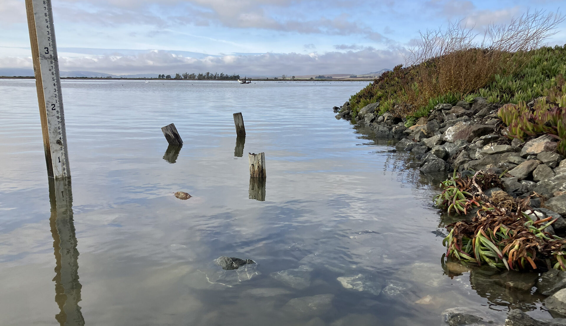
[[[532,107],[536,100],[530,101]],[[379,114],[379,102],[366,105],[357,114],[349,102],[333,109],[337,119],[353,120],[371,128],[376,138],[395,140],[396,151],[414,155],[411,165],[422,173],[444,173],[454,170],[462,174],[486,171],[501,175],[503,190],[513,198],[529,198],[530,207],[541,218],[557,218],[548,231],[566,235],[566,160],[556,152],[557,140],[549,135],[526,142],[511,140],[498,117],[500,105],[490,104],[483,97],[456,105],[438,104],[428,117],[406,127],[406,119],[385,112]],[[353,116],[355,115],[355,116]],[[409,125],[409,123],[407,124]],[[477,210],[477,209],[476,209]],[[475,215],[470,212],[467,217]],[[462,217],[466,218],[466,216]],[[550,269],[529,289],[548,296],[545,308],[555,319],[535,320],[520,310],[509,312],[505,325],[566,325],[566,272]],[[548,291],[552,289],[552,291]],[[445,325],[484,325],[481,312],[457,307],[443,313]]]

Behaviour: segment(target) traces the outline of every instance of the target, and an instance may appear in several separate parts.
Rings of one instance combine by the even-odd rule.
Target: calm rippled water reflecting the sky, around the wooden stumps
[[[334,117],[366,82],[62,84],[72,202],[51,182],[50,203],[35,81],[0,80],[1,325],[438,325],[455,306],[547,316],[529,291],[494,291],[506,275],[448,272],[432,231],[452,220],[431,205],[434,179]],[[180,150],[160,130],[171,122]],[[250,181],[248,152],[265,152],[265,183]],[[256,264],[224,271],[219,256]]]

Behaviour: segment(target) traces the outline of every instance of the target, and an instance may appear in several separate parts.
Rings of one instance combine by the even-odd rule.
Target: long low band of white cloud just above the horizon
[[[258,55],[222,55],[190,58],[166,51],[148,51],[136,55],[84,55],[60,57],[63,71],[88,70],[108,74],[174,72],[236,72],[240,75],[308,75],[356,73],[391,68],[402,62],[396,50],[366,48],[357,52],[264,53]],[[31,58],[0,58],[0,67],[31,67]]]

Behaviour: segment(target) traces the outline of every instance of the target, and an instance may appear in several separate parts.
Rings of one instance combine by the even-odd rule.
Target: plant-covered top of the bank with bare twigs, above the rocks
[[[527,12],[508,25],[491,25],[482,42],[460,22],[421,33],[407,67],[396,66],[350,98],[357,113],[380,102],[378,113],[426,117],[436,104],[482,96],[492,103],[518,104],[566,93],[566,45],[541,46],[564,16]]]

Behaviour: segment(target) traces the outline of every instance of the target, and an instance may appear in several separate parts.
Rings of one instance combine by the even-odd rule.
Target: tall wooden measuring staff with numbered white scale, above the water
[[[47,175],[71,176],[51,0],[25,0]]]

